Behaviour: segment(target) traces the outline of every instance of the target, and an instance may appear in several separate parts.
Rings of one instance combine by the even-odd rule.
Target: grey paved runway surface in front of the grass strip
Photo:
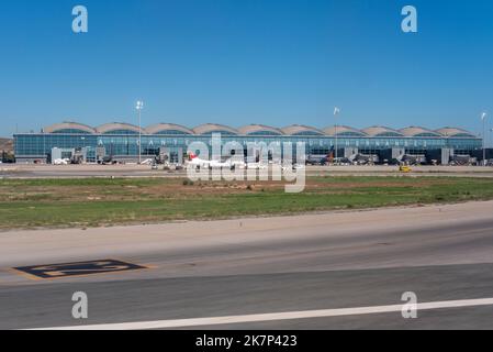
[[[352,309],[402,305],[405,292],[414,292],[419,304],[493,298],[492,211],[489,201],[4,232],[0,329],[127,322],[142,328],[139,322],[176,319],[187,321],[173,322],[178,329],[493,329],[493,300],[418,310],[417,319]],[[149,268],[48,280],[11,270],[103,258]],[[87,293],[89,319],[71,317],[75,292]],[[339,308],[352,310],[340,317],[313,314]],[[274,315],[300,311],[303,318]],[[251,315],[270,318],[248,321]],[[197,320],[212,317],[242,322]]]

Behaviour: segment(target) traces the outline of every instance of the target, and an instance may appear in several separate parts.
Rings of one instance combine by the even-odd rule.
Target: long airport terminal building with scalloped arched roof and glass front
[[[306,154],[334,154],[349,157],[360,154],[384,163],[399,155],[416,155],[437,164],[448,164],[453,155],[481,154],[482,139],[458,128],[429,130],[410,127],[394,130],[371,127],[359,130],[350,127],[317,129],[306,125],[290,125],[278,129],[250,124],[235,129],[221,124],[202,124],[187,128],[171,123],[158,123],[144,129],[127,123],[108,123],[92,128],[77,122],[63,122],[43,129],[40,133],[14,134],[14,153],[18,163],[51,163],[56,158],[80,155],[83,162],[96,163],[103,157],[121,162],[149,158],[166,153],[171,162],[181,162],[190,143],[195,141],[211,145],[212,134],[221,133],[222,142],[304,142]]]

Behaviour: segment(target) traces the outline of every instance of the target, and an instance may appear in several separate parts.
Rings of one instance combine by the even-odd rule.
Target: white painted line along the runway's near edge
[[[445,301],[417,304],[417,311],[419,312],[421,310],[463,308],[463,307],[478,307],[478,306],[492,306],[492,305],[493,298],[445,300]],[[229,316],[229,317],[138,321],[138,322],[124,322],[124,323],[104,323],[93,326],[72,326],[72,327],[44,328],[32,330],[149,330],[149,329],[193,328],[193,327],[232,324],[243,322],[261,322],[261,321],[278,321],[278,320],[293,320],[293,319],[307,319],[307,318],[329,318],[343,316],[373,315],[383,312],[401,312],[403,306],[404,305],[402,304],[392,306],[288,311],[288,312],[272,312],[272,314]]]

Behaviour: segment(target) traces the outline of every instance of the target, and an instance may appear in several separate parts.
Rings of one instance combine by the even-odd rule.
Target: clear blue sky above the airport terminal
[[[71,32],[71,9],[89,33]],[[418,10],[418,33],[401,9]],[[194,127],[493,119],[493,1],[4,0],[2,131],[64,120]]]

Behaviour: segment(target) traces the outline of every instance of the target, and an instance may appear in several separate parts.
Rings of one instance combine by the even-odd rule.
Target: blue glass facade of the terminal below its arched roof
[[[329,135],[301,133],[296,135],[274,135],[272,132],[255,132],[251,135],[234,135],[231,132],[221,135],[222,142],[238,142],[247,148],[248,143],[271,142],[304,142],[309,155],[327,155],[334,150],[336,139]],[[161,131],[159,134],[142,134],[142,155],[157,155],[159,147],[187,151],[192,142],[201,141],[212,144],[211,133],[204,135],[187,134],[177,130]],[[382,150],[403,148],[408,154],[424,154],[427,151],[452,148],[456,154],[471,154],[481,150],[482,140],[470,134],[457,136],[437,135],[348,135],[341,133],[337,138],[339,148],[358,148],[362,154],[378,154]],[[88,148],[104,147],[105,154],[111,156],[132,157],[138,155],[138,133],[134,131],[111,131],[104,134],[91,134],[77,130],[63,130],[53,133],[30,133],[14,135],[15,157],[46,158],[52,148]]]

